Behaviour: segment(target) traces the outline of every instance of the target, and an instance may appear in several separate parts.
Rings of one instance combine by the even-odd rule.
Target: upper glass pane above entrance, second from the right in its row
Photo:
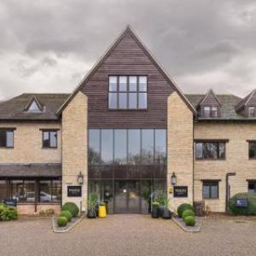
[[[154,162],[154,130],[142,130],[142,163],[152,164]]]

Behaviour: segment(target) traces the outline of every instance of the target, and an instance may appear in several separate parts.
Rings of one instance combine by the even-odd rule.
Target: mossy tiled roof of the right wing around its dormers
[[[205,95],[202,94],[186,94],[189,102],[196,107],[201,99]],[[248,118],[242,116],[240,113],[236,112],[236,104],[241,101],[241,97],[234,95],[216,95],[218,101],[221,104],[221,116],[218,120],[248,120]],[[203,117],[198,117],[198,119],[205,119]],[[214,118],[216,120],[216,118]],[[254,119],[255,120],[255,119]]]

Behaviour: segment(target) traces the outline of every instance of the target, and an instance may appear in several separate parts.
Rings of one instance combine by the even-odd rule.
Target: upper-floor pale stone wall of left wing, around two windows
[[[61,123],[1,123],[0,128],[16,128],[14,148],[0,148],[2,164],[61,163]],[[40,129],[60,129],[57,131],[57,148],[43,148]]]

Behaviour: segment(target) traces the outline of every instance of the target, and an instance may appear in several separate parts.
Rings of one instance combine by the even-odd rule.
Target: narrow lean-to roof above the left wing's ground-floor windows
[[[0,177],[61,177],[61,164],[3,164]]]

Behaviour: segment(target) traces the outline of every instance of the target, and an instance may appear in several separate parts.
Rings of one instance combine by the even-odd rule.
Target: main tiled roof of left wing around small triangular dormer
[[[56,110],[61,107],[61,104],[67,99],[69,94],[32,94],[24,93],[20,96],[15,96],[8,101],[0,103],[0,120],[57,120],[59,117],[55,114]],[[43,112],[27,112],[26,107],[36,97],[38,102],[44,106]]]

